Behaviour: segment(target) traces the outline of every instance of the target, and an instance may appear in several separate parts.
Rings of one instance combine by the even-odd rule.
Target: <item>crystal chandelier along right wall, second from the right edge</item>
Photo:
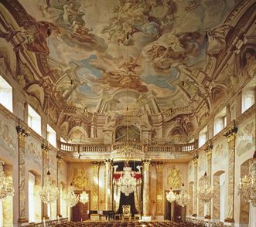
[[[207,172],[203,175],[203,181],[200,182],[200,185],[197,189],[198,197],[203,200],[203,202],[209,202],[213,198],[213,186],[210,185],[210,178],[207,175]]]

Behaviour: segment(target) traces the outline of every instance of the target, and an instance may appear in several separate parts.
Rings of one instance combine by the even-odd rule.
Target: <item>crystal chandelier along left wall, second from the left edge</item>
[[[59,189],[52,184],[49,171],[47,172],[46,183],[39,190],[39,196],[47,204],[55,202],[59,197]]]

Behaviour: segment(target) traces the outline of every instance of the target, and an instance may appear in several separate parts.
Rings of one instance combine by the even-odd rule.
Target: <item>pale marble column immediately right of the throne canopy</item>
[[[143,216],[149,216],[149,160],[143,161]]]

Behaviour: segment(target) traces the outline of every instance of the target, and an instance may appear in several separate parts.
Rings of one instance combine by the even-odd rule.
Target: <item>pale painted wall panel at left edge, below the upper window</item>
[[[11,128],[12,124],[5,123],[0,119],[0,144],[3,151],[9,152],[12,158],[15,158],[17,149],[17,136],[15,127]]]

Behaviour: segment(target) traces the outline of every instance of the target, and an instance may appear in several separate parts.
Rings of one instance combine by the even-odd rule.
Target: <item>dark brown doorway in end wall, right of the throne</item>
[[[166,190],[166,194],[169,191]],[[174,191],[175,193],[179,193],[179,191]],[[171,220],[173,222],[182,222],[186,219],[186,207],[182,207],[175,202],[170,203],[167,199],[166,208],[165,208],[165,219]]]

